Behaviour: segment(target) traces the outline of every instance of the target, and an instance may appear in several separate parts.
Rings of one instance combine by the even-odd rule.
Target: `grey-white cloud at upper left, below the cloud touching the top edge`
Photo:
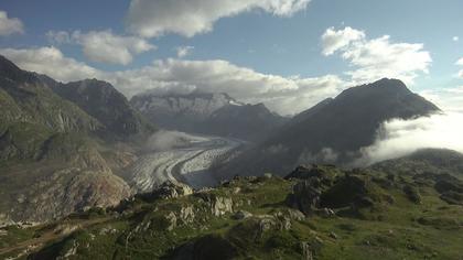
[[[116,35],[110,30],[87,33],[50,31],[46,35],[55,44],[76,43],[82,45],[84,55],[97,63],[128,65],[133,61],[133,55],[155,48],[144,39]]]

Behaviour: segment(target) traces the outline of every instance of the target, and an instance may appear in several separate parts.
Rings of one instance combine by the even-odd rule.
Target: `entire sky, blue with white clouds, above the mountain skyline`
[[[0,54],[129,98],[225,91],[294,115],[383,77],[463,110],[460,0],[2,0]]]

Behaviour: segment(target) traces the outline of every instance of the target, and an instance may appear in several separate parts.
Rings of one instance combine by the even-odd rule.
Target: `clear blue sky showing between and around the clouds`
[[[254,1],[256,2],[256,0]],[[302,2],[306,0],[286,1]],[[213,30],[196,32],[193,36],[183,36],[182,33],[170,32],[169,29],[162,35],[143,35],[143,33],[131,29],[128,17],[138,15],[130,13],[131,2],[129,0],[2,0],[0,10],[7,12],[9,19],[21,20],[23,32],[0,36],[0,47],[3,50],[34,50],[53,45],[65,57],[85,63],[91,68],[103,72],[140,69],[151,66],[153,61],[166,61],[168,58],[220,59],[239,68],[250,68],[263,75],[278,75],[284,78],[294,75],[300,78],[335,75],[345,82],[353,83],[345,73],[354,71],[358,64],[355,65],[353,61],[349,62],[342,57],[345,50],[341,50],[337,54],[323,55],[324,46],[321,41],[329,28],[334,26],[335,31],[341,31],[349,26],[365,33],[364,44],[384,35],[390,35],[390,44],[423,44],[421,51],[427,52],[432,62],[427,65],[428,74],[420,69],[416,72],[417,75],[410,83],[413,90],[440,90],[463,85],[462,79],[456,77],[463,67],[455,64],[459,58],[463,57],[463,28],[461,25],[463,24],[463,2],[459,0],[312,0],[306,1],[304,8],[283,15],[279,13],[281,9],[278,8],[280,7],[259,3],[260,6],[257,4],[257,8],[249,6],[245,10],[235,11],[233,15],[217,15],[212,21]],[[146,9],[147,7],[153,8],[154,14],[152,15],[155,15],[157,10],[165,9],[165,12],[169,12],[169,8],[175,8],[175,2],[189,11],[189,7],[182,6],[182,0],[171,0],[172,4],[159,3],[158,6],[155,2],[162,2],[161,0],[152,1],[154,3],[143,2],[147,1],[140,0],[139,4],[146,4],[142,6]],[[191,3],[207,4],[207,0],[192,0]],[[150,10],[147,13],[151,15]],[[157,20],[157,22],[159,21]],[[147,20],[141,22],[147,24]],[[149,25],[158,24],[148,24],[147,26]],[[83,43],[57,44],[46,36],[50,31],[65,31],[69,34],[79,31],[85,34],[90,31],[108,30],[115,35],[142,39],[142,41],[155,45],[155,48],[132,53],[132,59],[129,63],[107,63],[84,55]],[[455,41],[454,37],[460,40]],[[179,46],[193,46],[194,48],[187,56],[176,57],[175,48]],[[24,64],[25,68],[31,68],[31,61],[20,59],[11,52],[7,52],[7,54],[4,55],[11,56],[20,65]],[[36,64],[35,61],[34,64]],[[194,80],[187,82],[189,79],[185,79],[182,84],[198,84]],[[116,82],[111,83],[118,87]],[[198,85],[201,84],[206,85],[205,83]],[[120,88],[128,87],[130,86]],[[278,109],[276,108],[276,110]]]

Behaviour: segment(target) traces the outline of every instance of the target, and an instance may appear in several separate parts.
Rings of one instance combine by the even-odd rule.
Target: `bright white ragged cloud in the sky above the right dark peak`
[[[429,73],[431,55],[423,44],[392,43],[389,35],[369,40],[352,28],[327,29],[322,36],[324,55],[340,53],[353,71],[346,74],[357,84],[389,77],[413,84],[419,73]]]

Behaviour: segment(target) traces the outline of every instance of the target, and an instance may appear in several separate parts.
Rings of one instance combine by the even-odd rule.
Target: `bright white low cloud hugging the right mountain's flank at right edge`
[[[451,149],[463,153],[463,113],[438,113],[412,120],[387,121],[378,131],[376,142],[360,151],[356,164],[373,164],[397,159],[420,149]]]

